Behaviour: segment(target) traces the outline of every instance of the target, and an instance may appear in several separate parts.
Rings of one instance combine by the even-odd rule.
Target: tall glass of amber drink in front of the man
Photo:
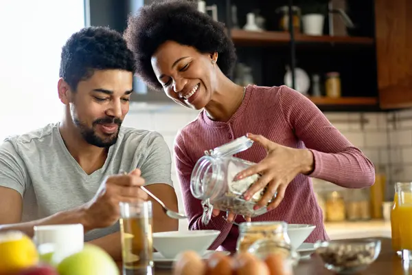
[[[124,275],[153,274],[152,203],[121,202],[120,232]]]

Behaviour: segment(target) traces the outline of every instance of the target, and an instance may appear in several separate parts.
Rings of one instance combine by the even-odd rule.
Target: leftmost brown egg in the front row
[[[206,264],[194,251],[185,251],[176,257],[173,263],[173,275],[204,275]]]

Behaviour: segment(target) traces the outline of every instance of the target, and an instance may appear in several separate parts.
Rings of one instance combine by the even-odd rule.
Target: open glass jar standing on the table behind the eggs
[[[284,245],[290,245],[288,223],[284,221],[251,221],[240,223],[236,251],[247,252],[249,248],[251,248],[251,245],[260,239],[271,239]]]

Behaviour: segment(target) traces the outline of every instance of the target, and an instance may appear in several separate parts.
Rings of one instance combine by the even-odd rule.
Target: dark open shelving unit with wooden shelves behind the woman
[[[343,25],[346,34],[334,33],[330,20],[333,20],[332,17],[336,18],[336,10],[328,7],[328,1],[325,0],[226,0],[225,5],[219,5],[221,2],[216,0],[207,0],[207,4],[217,4],[218,10],[227,10],[228,6],[236,5],[236,21],[240,28],[231,28],[231,12],[226,14],[225,25],[230,30],[229,35],[236,46],[238,60],[252,67],[253,79],[257,85],[284,85],[286,68],[290,68],[291,71],[293,68],[300,68],[310,78],[308,98],[322,111],[380,111],[376,76],[374,0],[342,1],[347,7],[345,10],[348,17],[354,23],[354,28],[346,28]],[[302,16],[314,10],[322,10],[322,14],[325,15],[323,34],[304,34],[303,17],[300,19],[300,28],[294,28],[293,32],[289,31],[291,28],[281,30],[279,20],[284,14],[274,11],[279,7],[291,5],[301,8]],[[264,31],[243,30],[249,12],[264,17]],[[342,23],[340,17],[337,19]],[[325,96],[328,72],[340,73],[342,95],[339,98]],[[321,96],[312,93],[314,76],[320,76],[320,84],[323,86]],[[297,88],[297,83],[299,80],[295,76],[295,86],[289,85]]]

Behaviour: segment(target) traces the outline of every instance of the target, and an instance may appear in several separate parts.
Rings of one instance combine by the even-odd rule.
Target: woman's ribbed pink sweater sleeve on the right
[[[374,164],[336,129],[306,96],[282,86],[282,112],[291,129],[314,155],[309,175],[346,188],[374,184]]]

